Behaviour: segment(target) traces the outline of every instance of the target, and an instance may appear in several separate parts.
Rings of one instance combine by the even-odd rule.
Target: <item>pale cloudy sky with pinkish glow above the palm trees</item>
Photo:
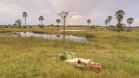
[[[113,16],[112,25],[116,25],[115,12],[125,11],[123,23],[133,17],[133,26],[139,26],[139,0],[0,0],[0,25],[14,24],[16,19],[22,19],[22,12],[28,13],[27,24],[38,25],[38,17],[44,16],[43,24],[56,24],[61,11],[69,11],[72,19],[69,25],[86,25],[91,19],[92,25],[105,25],[107,16]],[[24,23],[24,22],[23,22]]]

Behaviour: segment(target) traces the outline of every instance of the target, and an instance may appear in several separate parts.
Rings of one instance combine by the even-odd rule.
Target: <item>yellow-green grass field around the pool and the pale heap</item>
[[[69,29],[69,28],[67,28]],[[83,28],[70,28],[83,29]],[[113,32],[88,29],[67,34],[89,37],[89,43],[20,38],[0,34],[0,78],[139,78],[139,31]],[[57,28],[5,29],[15,31],[57,32]],[[4,31],[0,29],[0,31]],[[96,74],[80,70],[57,59],[59,53],[72,51],[103,67]]]

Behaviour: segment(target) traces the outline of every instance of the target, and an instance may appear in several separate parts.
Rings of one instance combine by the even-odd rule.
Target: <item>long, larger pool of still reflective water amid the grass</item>
[[[45,38],[48,40],[63,40],[62,34],[39,34],[33,32],[17,32],[20,37],[37,37]],[[75,42],[88,42],[86,37],[65,35],[65,40],[75,41]]]

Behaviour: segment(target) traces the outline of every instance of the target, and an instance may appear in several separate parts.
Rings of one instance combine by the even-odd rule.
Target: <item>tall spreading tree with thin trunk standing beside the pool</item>
[[[60,17],[61,17],[61,19],[62,19],[62,21],[63,21],[63,39],[65,40],[65,26],[66,26],[66,21],[67,21],[67,19],[69,18],[69,12],[67,12],[67,11],[62,11],[61,13],[59,13],[58,14]]]

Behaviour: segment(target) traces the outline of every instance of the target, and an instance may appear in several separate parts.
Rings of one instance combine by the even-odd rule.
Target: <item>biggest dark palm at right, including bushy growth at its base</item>
[[[123,31],[124,30],[123,24],[121,23],[123,18],[124,18],[124,15],[125,15],[125,12],[123,10],[118,10],[115,13],[116,19],[118,21],[118,23],[117,23],[117,31]]]

